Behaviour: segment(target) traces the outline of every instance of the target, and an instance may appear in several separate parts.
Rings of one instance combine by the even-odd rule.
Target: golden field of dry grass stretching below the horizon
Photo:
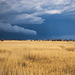
[[[75,42],[0,41],[0,75],[75,75]]]

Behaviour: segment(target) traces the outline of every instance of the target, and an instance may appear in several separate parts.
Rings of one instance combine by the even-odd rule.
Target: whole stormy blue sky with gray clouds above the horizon
[[[75,39],[75,0],[0,0],[0,39]]]

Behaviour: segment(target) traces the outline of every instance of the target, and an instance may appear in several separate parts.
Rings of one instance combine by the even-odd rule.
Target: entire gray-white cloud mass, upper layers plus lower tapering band
[[[45,19],[40,15],[71,14],[73,11],[74,0],[0,0],[0,30],[35,35],[36,31],[17,25],[41,24]]]

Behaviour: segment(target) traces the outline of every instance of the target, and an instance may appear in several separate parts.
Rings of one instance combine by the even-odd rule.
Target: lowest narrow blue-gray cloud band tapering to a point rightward
[[[30,34],[30,35],[36,35],[36,31],[34,30],[29,30],[29,29],[24,29],[19,26],[12,26],[9,23],[1,23],[0,22],[0,30],[4,32],[12,32],[12,33],[24,33],[24,34]]]

